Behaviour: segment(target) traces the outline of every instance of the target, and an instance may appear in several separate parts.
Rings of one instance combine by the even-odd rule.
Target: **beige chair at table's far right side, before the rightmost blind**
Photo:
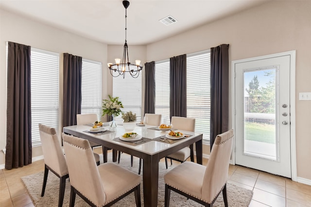
[[[186,117],[179,117],[179,116],[172,116],[171,124],[173,128],[179,130],[186,130],[186,131],[194,131],[195,130],[195,119],[194,118],[186,118]],[[189,147],[185,147],[177,152],[165,157],[165,165],[166,169],[168,168],[167,159],[172,159],[180,162],[186,161],[190,157],[191,161],[194,161],[193,155],[193,145],[191,144]]]

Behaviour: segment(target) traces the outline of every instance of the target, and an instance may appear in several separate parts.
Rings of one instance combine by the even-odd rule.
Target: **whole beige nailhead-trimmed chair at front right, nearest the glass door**
[[[217,135],[207,166],[187,161],[164,175],[165,207],[169,207],[171,190],[205,207],[212,207],[218,195],[223,191],[225,207],[227,207],[226,183],[232,142],[233,129],[230,129]]]

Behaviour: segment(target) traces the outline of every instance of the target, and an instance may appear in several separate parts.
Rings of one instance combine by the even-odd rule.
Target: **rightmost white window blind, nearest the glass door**
[[[210,50],[187,55],[187,117],[195,118],[195,132],[209,142]]]

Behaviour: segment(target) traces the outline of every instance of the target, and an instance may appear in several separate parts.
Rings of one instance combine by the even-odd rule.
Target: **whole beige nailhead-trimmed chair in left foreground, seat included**
[[[70,203],[74,206],[78,194],[92,207],[110,206],[135,192],[136,206],[140,207],[141,177],[121,166],[106,162],[94,164],[89,142],[62,134],[70,178]]]

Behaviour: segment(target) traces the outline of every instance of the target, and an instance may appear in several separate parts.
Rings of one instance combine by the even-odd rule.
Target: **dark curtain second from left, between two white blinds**
[[[81,113],[82,57],[64,53],[63,126],[77,124]]]

